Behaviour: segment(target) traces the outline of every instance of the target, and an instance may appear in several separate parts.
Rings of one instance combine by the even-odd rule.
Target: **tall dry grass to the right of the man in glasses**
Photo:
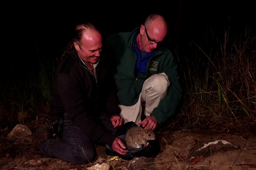
[[[249,27],[244,31],[230,35],[228,28],[222,38],[212,35],[210,51],[191,40],[197,50],[193,62],[185,57],[181,66],[184,103],[174,127],[256,123],[256,38]]]

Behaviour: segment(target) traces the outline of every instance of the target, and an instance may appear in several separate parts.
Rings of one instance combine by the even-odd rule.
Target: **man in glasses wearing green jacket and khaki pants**
[[[154,130],[177,108],[182,92],[177,65],[170,50],[160,46],[167,29],[163,16],[151,14],[132,32],[106,39],[106,51],[114,59],[120,115],[125,123],[133,121]]]

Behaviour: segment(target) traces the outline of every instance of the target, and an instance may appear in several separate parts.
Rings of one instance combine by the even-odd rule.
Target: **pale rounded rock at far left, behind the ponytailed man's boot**
[[[29,135],[32,135],[31,130],[29,127],[23,124],[17,124],[12,131],[7,135],[7,138],[14,137],[28,137]]]

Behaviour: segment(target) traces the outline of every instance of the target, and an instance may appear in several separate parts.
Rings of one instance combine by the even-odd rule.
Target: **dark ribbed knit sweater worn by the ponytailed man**
[[[110,73],[109,61],[101,55],[94,72],[89,72],[76,51],[65,57],[58,65],[54,82],[50,115],[67,112],[72,122],[83,129],[91,139],[112,146],[112,135],[95,117],[101,112],[119,115],[116,84]]]

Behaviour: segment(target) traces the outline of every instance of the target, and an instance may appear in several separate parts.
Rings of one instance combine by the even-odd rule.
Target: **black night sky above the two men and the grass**
[[[145,4],[145,1],[140,6],[138,3],[126,4],[123,1],[122,5],[105,3],[100,7],[100,3],[70,2],[64,7],[63,4],[53,6],[37,2],[15,4],[15,7],[11,8],[8,6],[7,12],[1,12],[4,40],[4,55],[0,59],[2,77],[8,77],[7,73],[13,69],[22,72],[29,67],[29,63],[36,64],[39,57],[58,57],[62,46],[69,41],[71,31],[82,21],[93,22],[101,30],[103,38],[106,38],[112,33],[132,31],[139,27],[149,14],[162,14],[169,24],[167,41],[175,41],[173,35],[179,1],[170,1],[169,4],[156,2],[159,4]],[[206,23],[215,29],[223,30],[227,20],[237,28],[245,24],[255,25],[254,7],[246,1],[224,4],[218,1],[184,1],[179,33],[196,39],[205,29]]]

